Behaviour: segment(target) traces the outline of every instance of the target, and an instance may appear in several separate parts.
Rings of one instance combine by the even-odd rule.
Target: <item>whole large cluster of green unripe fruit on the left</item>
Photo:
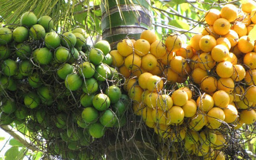
[[[58,34],[53,25],[25,12],[20,26],[0,28],[0,125],[25,125],[72,159],[107,128],[125,125],[128,96],[107,41],[90,47],[84,29]]]

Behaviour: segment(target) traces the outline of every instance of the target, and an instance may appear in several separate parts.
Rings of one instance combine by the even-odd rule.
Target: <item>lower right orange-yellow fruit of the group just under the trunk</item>
[[[157,58],[152,54],[144,55],[141,58],[141,67],[146,71],[154,70],[157,67]]]

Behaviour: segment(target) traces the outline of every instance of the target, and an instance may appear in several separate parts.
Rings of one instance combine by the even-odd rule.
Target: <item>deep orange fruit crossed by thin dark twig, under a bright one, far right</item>
[[[231,93],[234,90],[235,83],[231,78],[218,79],[217,89],[224,90],[227,93]]]

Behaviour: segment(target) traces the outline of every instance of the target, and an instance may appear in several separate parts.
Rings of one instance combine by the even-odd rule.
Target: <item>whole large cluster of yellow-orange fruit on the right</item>
[[[126,78],[134,113],[160,137],[183,140],[193,154],[225,159],[226,137],[214,129],[256,121],[256,45],[249,36],[255,13],[251,1],[241,11],[233,4],[210,9],[208,25],[188,44],[177,34],[157,41],[149,30],[137,41],[120,41],[110,54]],[[177,89],[185,81],[192,85]]]

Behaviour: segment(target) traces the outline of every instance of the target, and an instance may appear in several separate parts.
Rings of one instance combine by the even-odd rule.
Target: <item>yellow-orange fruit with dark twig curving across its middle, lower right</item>
[[[222,121],[225,119],[225,113],[221,108],[214,107],[207,113],[208,128],[217,129],[221,126]]]

